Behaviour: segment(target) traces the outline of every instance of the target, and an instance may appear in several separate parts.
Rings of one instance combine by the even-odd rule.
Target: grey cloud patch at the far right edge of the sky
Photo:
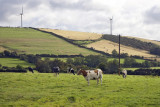
[[[154,6],[145,12],[145,23],[159,24],[160,23],[160,7]]]

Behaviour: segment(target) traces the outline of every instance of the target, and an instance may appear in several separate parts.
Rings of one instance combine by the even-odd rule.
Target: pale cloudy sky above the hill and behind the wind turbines
[[[160,41],[160,0],[0,0],[0,26],[51,28]]]

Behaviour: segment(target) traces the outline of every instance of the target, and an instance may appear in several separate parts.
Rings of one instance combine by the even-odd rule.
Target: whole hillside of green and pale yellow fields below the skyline
[[[98,54],[94,50],[111,54],[114,49],[118,51],[118,37],[114,35],[44,28],[38,30],[31,28],[0,28],[0,51],[8,49],[26,54],[55,55]],[[56,35],[59,35],[59,37]],[[160,42],[134,37],[122,36],[121,38],[121,53],[156,57],[156,55],[150,54],[149,49],[160,46]],[[85,49],[85,47],[91,50]]]

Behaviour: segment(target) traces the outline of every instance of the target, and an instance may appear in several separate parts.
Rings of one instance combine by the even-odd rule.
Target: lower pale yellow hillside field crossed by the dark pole
[[[119,51],[118,43],[114,43],[108,40],[101,40],[98,42],[94,42],[87,45],[87,47],[93,47],[96,50],[104,51],[110,54],[114,49],[116,49],[117,52]],[[135,48],[124,46],[124,45],[121,45],[121,53],[128,53],[128,55],[138,55],[138,56],[144,56],[144,57],[156,57],[155,55],[150,55],[148,51],[135,49]]]

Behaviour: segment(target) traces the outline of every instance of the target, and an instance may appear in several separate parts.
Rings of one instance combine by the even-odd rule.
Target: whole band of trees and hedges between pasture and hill
[[[10,52],[12,53],[12,52]],[[15,52],[14,52],[15,53]],[[4,51],[4,55],[11,55],[7,51]],[[29,63],[33,63],[36,65],[36,70],[40,73],[50,73],[52,72],[52,68],[55,66],[59,66],[61,69],[61,72],[67,72],[68,67],[73,67],[75,71],[79,69],[95,69],[100,68],[104,71],[106,74],[114,74],[118,73],[119,68],[119,62],[116,58],[113,58],[113,60],[108,60],[106,56],[102,55],[88,55],[88,56],[78,56],[78,57],[68,57],[66,62],[63,62],[59,59],[50,60],[46,54],[44,56],[47,56],[44,60],[41,59],[41,55],[18,55],[16,54],[21,60],[24,60]],[[42,55],[43,56],[43,55]],[[117,57],[116,52],[113,50],[112,52],[113,57]],[[147,61],[140,63],[137,62],[135,58],[132,57],[126,57],[124,58],[124,63],[120,65],[122,68],[150,68],[150,67],[157,67],[160,66],[160,62],[156,61]],[[16,68],[6,68],[6,67],[0,67],[1,72],[26,72],[26,69],[18,66]],[[137,71],[136,71],[137,72]],[[134,74],[130,72],[130,74]],[[135,73],[140,74],[140,73]],[[150,73],[148,73],[150,74]]]

